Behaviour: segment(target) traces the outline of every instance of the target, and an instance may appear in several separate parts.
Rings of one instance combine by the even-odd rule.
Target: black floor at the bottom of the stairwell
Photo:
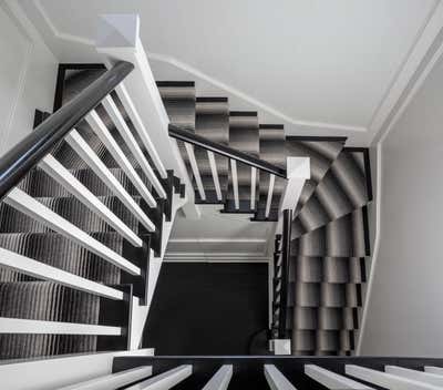
[[[143,347],[155,355],[257,353],[268,328],[268,265],[164,263]]]

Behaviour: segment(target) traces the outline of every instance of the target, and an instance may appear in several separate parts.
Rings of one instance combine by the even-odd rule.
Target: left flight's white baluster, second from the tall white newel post
[[[154,186],[158,196],[166,198],[167,195],[166,195],[165,188],[163,188],[162,183],[159,182],[158,177],[155,175],[153,168],[151,167],[150,163],[147,162],[145,155],[143,154],[143,151],[138,146],[137,140],[135,140],[134,135],[132,134],[130,127],[127,126],[126,121],[124,120],[123,115],[121,114],[114,100],[111,98],[111,95],[107,95],[105,99],[102,100],[102,104],[105,107],[111,120],[114,122],[115,127],[119,130],[120,135],[123,137],[126,145],[131,150],[131,153],[137,160],[144,174],[146,175],[148,181]]]

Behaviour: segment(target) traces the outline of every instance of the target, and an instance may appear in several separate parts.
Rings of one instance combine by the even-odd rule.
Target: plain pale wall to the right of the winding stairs
[[[381,155],[381,240],[361,355],[443,356],[443,61]]]

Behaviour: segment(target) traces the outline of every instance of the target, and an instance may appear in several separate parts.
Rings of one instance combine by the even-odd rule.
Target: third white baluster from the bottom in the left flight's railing
[[[119,255],[116,252],[110,249],[95,238],[91,237],[87,233],[83,232],[69,220],[61,217],[33,197],[19,188],[13,188],[8,196],[3,199],[4,203],[19,212],[29,215],[38,222],[47,225],[52,230],[61,234],[62,236],[73,240],[74,243],[85,247],[95,255],[112,263],[132,275],[141,275],[141,269]]]

